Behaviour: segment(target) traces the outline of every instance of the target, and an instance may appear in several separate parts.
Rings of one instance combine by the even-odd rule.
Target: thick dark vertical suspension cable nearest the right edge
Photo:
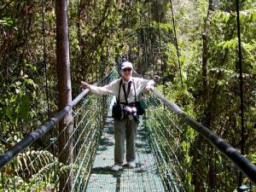
[[[239,80],[240,80],[240,111],[241,111],[241,154],[244,154],[244,108],[243,108],[243,82],[242,82],[242,64],[241,64],[241,31],[240,31],[240,15],[239,0],[236,0],[236,22],[237,22],[237,38],[238,38],[238,57],[239,57]],[[242,172],[239,172],[238,184],[241,186]],[[239,187],[238,186],[238,187]]]

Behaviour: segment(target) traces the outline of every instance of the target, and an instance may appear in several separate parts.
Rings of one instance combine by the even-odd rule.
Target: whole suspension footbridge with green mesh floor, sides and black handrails
[[[114,69],[97,84],[117,76]],[[157,90],[141,98],[147,111],[138,129],[135,169],[124,165],[123,171],[111,172],[113,96],[84,90],[0,156],[0,191],[255,191],[256,166],[229,143]],[[73,131],[60,151],[58,122],[69,112],[67,127],[72,125]],[[67,148],[68,159],[61,162]],[[238,186],[240,172],[245,179]]]

